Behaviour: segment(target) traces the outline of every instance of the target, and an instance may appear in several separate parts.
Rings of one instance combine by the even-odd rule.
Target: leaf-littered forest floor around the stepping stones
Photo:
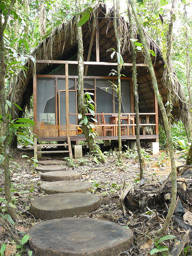
[[[33,150],[27,148],[13,149],[11,154],[12,198],[17,207],[16,211],[19,220],[16,220],[14,224],[8,222],[9,230],[7,226],[0,224],[0,245],[3,243],[7,245],[6,256],[15,255],[17,252],[16,238],[20,237],[21,239],[22,236],[27,233],[28,228],[41,221],[36,220],[30,213],[30,202],[34,198],[43,195],[40,193],[40,185],[45,183],[40,180],[40,173],[35,170],[35,166],[33,164],[29,166],[26,159],[22,158],[22,155],[32,157]],[[178,155],[176,155],[176,158],[178,158]],[[52,155],[50,158],[42,158],[42,160],[48,159],[63,160],[62,157],[56,157],[55,155]],[[76,161],[74,164],[66,162],[66,165],[70,164],[68,166],[69,170],[76,170],[81,173],[82,177],[80,180],[92,184],[91,192],[97,194],[101,200],[100,207],[95,212],[80,217],[105,219],[130,228],[134,233],[134,245],[131,250],[122,252],[119,255],[150,255],[150,250],[154,248],[153,241],[157,241],[158,236],[156,231],[160,228],[160,225],[163,224],[163,220],[166,217],[166,207],[169,207],[169,201],[167,204],[161,201],[159,205],[158,202],[156,202],[157,205],[153,204],[151,206],[153,207],[151,210],[157,210],[160,219],[158,219],[153,212],[143,212],[127,208],[126,216],[123,216],[120,195],[130,185],[135,188],[134,192],[137,191],[136,188],[142,188],[142,193],[146,192],[146,196],[152,193],[153,190],[158,190],[170,174],[170,161],[169,158],[166,157],[166,152],[161,151],[157,155],[150,156],[150,161],[145,160],[144,185],[139,185],[138,162],[133,158],[124,158],[123,166],[118,165],[117,158],[113,154],[108,154],[106,164],[96,164],[96,162],[91,159],[92,158],[89,156],[84,156],[80,162]],[[183,165],[181,160],[176,160],[176,166],[181,165]],[[152,190],[149,189],[150,187]],[[0,169],[0,188],[0,198],[4,198],[4,176],[2,169]],[[139,193],[142,194],[141,191]],[[5,214],[6,206],[3,202],[0,203],[0,210],[2,214]],[[191,209],[189,205],[183,205],[186,211]],[[167,234],[172,234],[180,240],[185,232],[186,230],[182,230],[182,228],[178,227],[174,220],[171,221],[167,230]],[[188,245],[191,244],[190,241],[189,238]],[[165,241],[164,245],[168,246],[170,251],[172,247],[174,247],[174,242],[175,240],[169,240],[168,243]],[[27,244],[26,250],[30,250],[29,243]],[[0,252],[0,255],[4,254]],[[190,250],[188,250],[188,254],[186,255],[192,255],[190,254]]]

